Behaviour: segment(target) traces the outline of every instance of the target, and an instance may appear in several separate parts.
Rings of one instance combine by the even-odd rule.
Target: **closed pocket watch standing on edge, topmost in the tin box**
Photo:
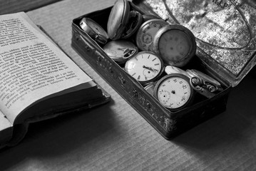
[[[108,17],[108,36],[112,40],[121,38],[123,30],[128,23],[130,6],[126,0],[118,0],[111,9]]]

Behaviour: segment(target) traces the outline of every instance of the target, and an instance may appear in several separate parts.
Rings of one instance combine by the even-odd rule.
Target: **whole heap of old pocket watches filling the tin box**
[[[190,105],[195,92],[212,98],[222,90],[220,83],[205,73],[181,69],[194,58],[197,48],[195,36],[185,26],[133,11],[127,0],[116,1],[107,31],[88,18],[83,18],[80,26],[169,110]]]

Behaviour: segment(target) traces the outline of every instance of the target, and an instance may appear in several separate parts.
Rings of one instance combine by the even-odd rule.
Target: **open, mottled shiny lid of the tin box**
[[[133,0],[145,14],[182,24],[196,37],[197,56],[232,86],[256,63],[254,0]]]

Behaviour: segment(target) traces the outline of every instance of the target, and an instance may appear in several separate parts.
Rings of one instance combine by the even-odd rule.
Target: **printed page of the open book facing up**
[[[0,16],[0,49],[0,109],[12,123],[36,100],[91,81],[24,12]]]

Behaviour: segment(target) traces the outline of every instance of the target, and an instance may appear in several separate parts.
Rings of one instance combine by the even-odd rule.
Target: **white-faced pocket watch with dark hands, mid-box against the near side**
[[[126,61],[125,70],[130,76],[145,86],[155,81],[163,73],[163,60],[148,51],[140,51]]]

